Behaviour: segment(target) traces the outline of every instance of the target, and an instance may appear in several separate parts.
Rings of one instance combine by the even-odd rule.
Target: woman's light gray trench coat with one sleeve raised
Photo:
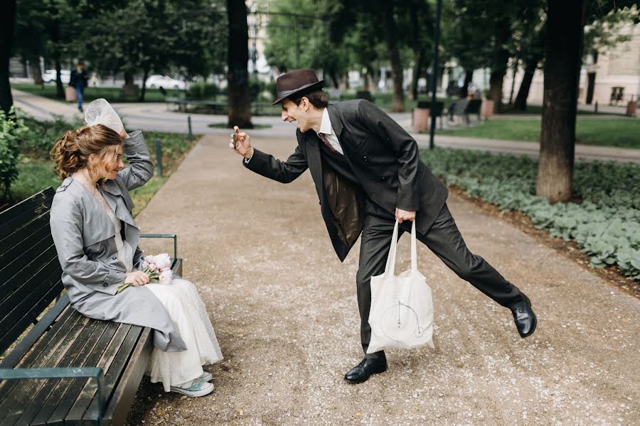
[[[124,239],[135,248],[134,267],[142,260],[139,229],[132,216],[128,190],[144,185],[154,174],[142,132],[124,139],[130,166],[102,185],[102,195],[122,221]],[[144,285],[120,293],[127,275],[118,258],[115,228],[100,202],[82,182],[66,178],[53,197],[51,234],[62,266],[62,280],[71,306],[90,318],[142,325],[154,329],[154,345],[163,351],[183,351],[186,346],[160,300]]]

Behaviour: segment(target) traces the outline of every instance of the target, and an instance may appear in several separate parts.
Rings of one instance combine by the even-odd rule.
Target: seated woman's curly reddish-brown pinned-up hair
[[[88,167],[91,154],[104,158],[110,147],[120,144],[122,138],[119,134],[102,124],[66,131],[51,149],[55,173],[60,180],[64,180],[76,171]]]

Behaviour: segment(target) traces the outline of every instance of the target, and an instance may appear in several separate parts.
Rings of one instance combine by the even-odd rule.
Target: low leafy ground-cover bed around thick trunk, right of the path
[[[422,151],[421,158],[449,185],[520,210],[551,236],[576,241],[593,266],[616,265],[640,279],[640,165],[577,162],[573,190],[582,202],[550,204],[535,195],[538,160],[447,148]]]

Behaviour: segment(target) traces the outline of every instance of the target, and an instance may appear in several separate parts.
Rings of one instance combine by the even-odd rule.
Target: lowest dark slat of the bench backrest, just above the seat
[[[19,302],[9,312],[9,315],[2,318],[2,322],[0,322],[0,348],[6,349],[11,346],[11,342],[14,342],[63,290],[63,283],[60,280],[60,266],[50,272],[48,276],[46,273],[43,275],[43,280],[36,281],[39,284],[29,297]]]

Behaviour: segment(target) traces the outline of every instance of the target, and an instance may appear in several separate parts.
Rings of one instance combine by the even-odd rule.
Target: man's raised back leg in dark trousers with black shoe
[[[535,331],[537,320],[531,302],[515,285],[503,278],[484,258],[467,249],[447,204],[427,234],[417,235],[449,268],[504,307],[508,307],[521,337]]]

